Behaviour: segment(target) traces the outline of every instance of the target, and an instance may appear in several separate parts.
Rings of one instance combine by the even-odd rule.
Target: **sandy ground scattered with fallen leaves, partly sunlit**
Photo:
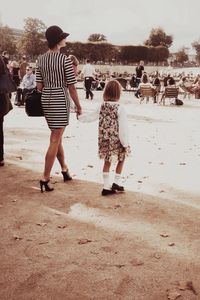
[[[101,101],[84,100],[84,111]],[[126,193],[102,197],[97,122],[71,115],[64,147],[73,180],[52,172],[41,194],[49,131],[23,108],[5,118],[0,168],[0,299],[200,299],[200,101],[139,104],[123,94],[132,157]]]

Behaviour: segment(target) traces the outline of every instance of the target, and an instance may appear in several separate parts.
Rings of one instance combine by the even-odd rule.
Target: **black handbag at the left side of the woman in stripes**
[[[25,96],[25,110],[29,117],[44,116],[41,104],[42,93],[36,89],[28,92]]]

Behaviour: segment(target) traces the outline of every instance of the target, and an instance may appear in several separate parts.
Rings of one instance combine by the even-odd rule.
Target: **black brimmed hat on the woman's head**
[[[47,28],[45,33],[49,48],[54,48],[60,41],[66,39],[68,35],[69,33],[63,32],[62,29],[56,25]]]

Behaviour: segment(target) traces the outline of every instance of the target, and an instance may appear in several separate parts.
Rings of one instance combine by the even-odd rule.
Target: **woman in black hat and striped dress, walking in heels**
[[[58,26],[50,26],[46,30],[49,50],[38,58],[36,70],[37,89],[42,91],[42,108],[47,124],[51,130],[50,144],[45,157],[43,177],[40,180],[41,192],[53,191],[49,186],[50,173],[57,157],[64,181],[71,180],[65,163],[62,146],[62,135],[69,122],[69,94],[76,106],[77,116],[81,114],[81,106],[75,88],[75,75],[70,59],[60,53],[65,47],[68,33]],[[69,94],[68,94],[69,91]]]

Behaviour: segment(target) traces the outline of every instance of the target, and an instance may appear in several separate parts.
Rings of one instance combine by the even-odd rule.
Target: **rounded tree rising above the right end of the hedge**
[[[164,46],[169,48],[173,43],[172,35],[167,35],[162,28],[153,28],[149,38],[145,41],[147,46]]]

